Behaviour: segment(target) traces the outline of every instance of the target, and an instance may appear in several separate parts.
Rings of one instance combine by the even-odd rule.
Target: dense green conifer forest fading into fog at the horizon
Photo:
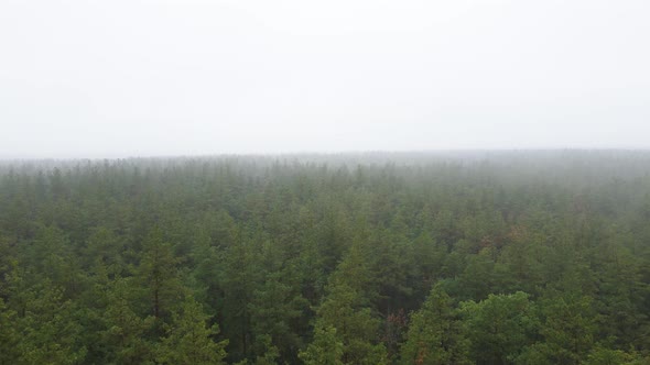
[[[650,153],[0,163],[0,364],[648,364]]]

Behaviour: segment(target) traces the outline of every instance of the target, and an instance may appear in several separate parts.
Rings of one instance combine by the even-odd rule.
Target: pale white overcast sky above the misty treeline
[[[0,157],[650,147],[650,2],[0,1]]]

